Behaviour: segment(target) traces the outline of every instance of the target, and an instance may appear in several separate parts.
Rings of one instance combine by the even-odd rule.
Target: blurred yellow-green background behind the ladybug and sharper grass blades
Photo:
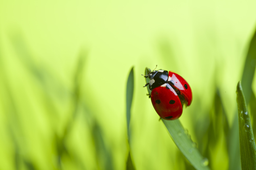
[[[238,123],[236,84],[255,6],[253,0],[2,0],[0,169],[126,169],[129,147],[138,170],[193,169],[142,88],[145,67],[156,65],[189,82],[193,102],[180,120],[210,168],[240,169],[238,129],[231,143],[226,129]],[[252,87],[255,93],[255,80]]]

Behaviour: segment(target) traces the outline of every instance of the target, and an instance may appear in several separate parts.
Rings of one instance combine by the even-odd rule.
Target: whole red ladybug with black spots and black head
[[[158,115],[166,120],[178,119],[183,105],[189,106],[192,91],[187,81],[177,73],[166,70],[153,70],[148,75],[151,102]]]

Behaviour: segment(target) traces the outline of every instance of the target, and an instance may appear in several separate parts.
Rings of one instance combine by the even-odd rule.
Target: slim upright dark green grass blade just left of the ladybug
[[[126,118],[127,118],[127,134],[128,139],[130,138],[130,119],[131,119],[131,107],[132,107],[132,100],[133,100],[133,90],[134,90],[134,74],[133,74],[133,67],[130,71],[127,80],[127,89],[126,89]]]

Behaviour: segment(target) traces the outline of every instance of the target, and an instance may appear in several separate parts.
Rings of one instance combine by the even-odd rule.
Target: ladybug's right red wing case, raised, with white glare
[[[187,106],[191,104],[192,101],[192,91],[190,86],[188,85],[187,81],[182,78],[177,73],[169,71],[168,74],[168,82],[171,82],[171,84],[174,86],[174,88],[177,88],[181,95],[185,98],[187,101]]]

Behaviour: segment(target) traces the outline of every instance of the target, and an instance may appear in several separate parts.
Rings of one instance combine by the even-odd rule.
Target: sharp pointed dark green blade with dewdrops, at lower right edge
[[[237,107],[239,120],[239,141],[241,166],[243,170],[256,169],[256,146],[251,128],[245,96],[239,81],[237,84]]]

